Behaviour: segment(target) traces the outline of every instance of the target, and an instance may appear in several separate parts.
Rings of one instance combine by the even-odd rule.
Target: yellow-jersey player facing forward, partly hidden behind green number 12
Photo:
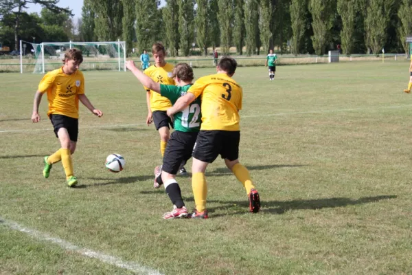
[[[162,43],[155,43],[152,45],[152,54],[155,58],[155,65],[145,69],[144,74],[149,76],[155,82],[163,85],[175,85],[172,71],[173,65],[165,61],[165,47]],[[146,124],[149,126],[152,122],[155,122],[156,130],[160,135],[160,152],[163,157],[165,153],[166,145],[170,138],[170,126],[173,127],[172,120],[168,117],[166,110],[172,107],[172,103],[168,98],[161,96],[155,91],[151,91],[147,87],[146,89],[146,102],[148,104],[148,117],[146,118]],[[187,175],[183,165],[179,168],[179,174]]]

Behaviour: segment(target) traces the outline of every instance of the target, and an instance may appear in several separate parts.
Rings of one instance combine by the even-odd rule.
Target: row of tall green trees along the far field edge
[[[162,41],[171,56],[267,53],[297,54],[407,52],[412,34],[412,0],[84,0],[73,22],[58,0],[2,0],[0,42],[18,49],[19,39],[36,42],[126,41],[130,53]],[[43,5],[27,14],[27,3]],[[77,27],[77,28],[76,28]],[[150,52],[150,51],[149,51]]]

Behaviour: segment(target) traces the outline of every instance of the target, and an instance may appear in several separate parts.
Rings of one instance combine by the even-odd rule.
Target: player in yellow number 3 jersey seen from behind
[[[249,210],[260,210],[258,190],[251,181],[249,171],[239,163],[240,118],[242,109],[242,87],[233,78],[237,63],[233,58],[223,57],[217,74],[196,80],[185,96],[168,109],[168,115],[181,111],[193,100],[202,96],[202,125],[193,149],[192,188],[196,210],[194,219],[207,219],[207,184],[205,170],[209,163],[220,155],[225,164],[243,184],[249,197]]]

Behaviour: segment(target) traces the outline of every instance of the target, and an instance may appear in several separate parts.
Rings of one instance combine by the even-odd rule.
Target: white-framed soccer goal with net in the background
[[[62,66],[65,51],[73,47],[83,54],[80,69],[118,70],[126,72],[126,42],[62,42],[30,43],[20,41],[20,71],[44,74]]]

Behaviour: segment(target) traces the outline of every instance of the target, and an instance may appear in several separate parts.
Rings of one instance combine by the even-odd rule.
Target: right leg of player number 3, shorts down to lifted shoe
[[[249,210],[256,213],[260,209],[260,197],[256,190],[249,170],[239,162],[239,142],[240,131],[224,131],[225,138],[223,140],[222,151],[220,155],[225,159],[225,164],[240,181],[249,197]]]

